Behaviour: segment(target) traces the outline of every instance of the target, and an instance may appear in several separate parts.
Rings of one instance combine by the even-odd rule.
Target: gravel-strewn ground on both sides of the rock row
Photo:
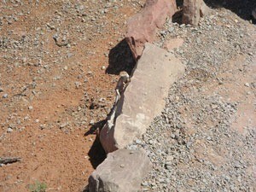
[[[1,1],[0,191],[80,191],[102,160],[91,125],[105,119],[118,77],[106,74],[125,20],[145,1]],[[246,2],[246,3],[245,3]],[[187,66],[143,138],[154,170],[142,191],[254,191],[255,6],[214,8],[198,27],[167,20],[155,44]],[[233,12],[232,12],[232,11]],[[178,22],[175,19],[174,22]],[[113,55],[119,57],[119,55]],[[96,148],[99,150],[99,148]]]

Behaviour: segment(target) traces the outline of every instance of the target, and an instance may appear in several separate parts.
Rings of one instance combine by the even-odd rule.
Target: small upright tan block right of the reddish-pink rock
[[[200,17],[207,15],[209,10],[203,0],[184,0],[183,23],[196,26]]]

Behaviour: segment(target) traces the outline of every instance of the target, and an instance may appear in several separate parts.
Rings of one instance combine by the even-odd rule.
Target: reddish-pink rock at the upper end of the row
[[[152,43],[157,28],[164,25],[166,17],[177,10],[175,0],[148,0],[143,10],[127,21],[125,39],[135,59],[142,55],[146,42]]]

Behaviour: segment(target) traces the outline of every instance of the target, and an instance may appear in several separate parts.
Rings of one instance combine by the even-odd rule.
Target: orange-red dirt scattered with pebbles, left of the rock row
[[[0,191],[86,185],[104,158],[90,127],[118,79],[105,73],[108,53],[143,2],[1,0],[0,157],[22,160],[0,167]]]

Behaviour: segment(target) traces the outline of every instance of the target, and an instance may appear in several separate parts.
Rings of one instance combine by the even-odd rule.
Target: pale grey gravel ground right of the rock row
[[[169,20],[160,31],[159,46],[183,38],[173,52],[187,70],[128,147],[154,164],[142,191],[256,190],[256,26],[241,18],[216,8],[198,27]]]

